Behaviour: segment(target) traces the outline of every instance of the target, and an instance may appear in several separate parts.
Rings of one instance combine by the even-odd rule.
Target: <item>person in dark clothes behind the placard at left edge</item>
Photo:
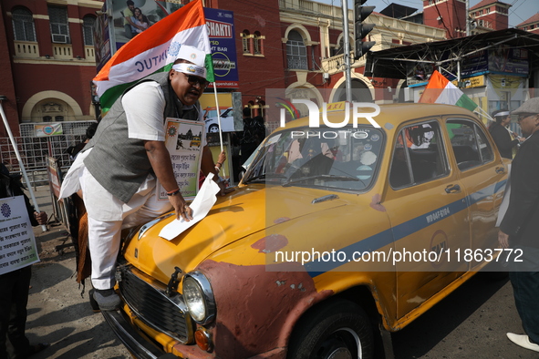
[[[28,217],[33,226],[47,223],[47,213],[34,210],[20,181],[0,164],[0,198],[24,196]],[[32,266],[0,274],[0,359],[21,359],[41,352],[49,344],[30,345],[26,338],[26,304]],[[9,352],[9,355],[8,355]]]

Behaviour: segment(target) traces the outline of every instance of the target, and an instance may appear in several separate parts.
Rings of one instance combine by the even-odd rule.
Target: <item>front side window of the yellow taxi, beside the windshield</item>
[[[389,171],[392,188],[428,182],[448,172],[438,122],[414,124],[399,132]]]

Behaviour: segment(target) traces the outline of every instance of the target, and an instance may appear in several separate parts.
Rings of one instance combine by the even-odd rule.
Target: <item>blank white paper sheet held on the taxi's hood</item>
[[[217,200],[215,195],[221,190],[219,185],[215,183],[213,179],[213,173],[208,174],[204,183],[202,183],[201,190],[192,200],[192,203],[189,205],[192,209],[192,220],[184,221],[182,218],[180,220],[174,219],[171,223],[167,224],[159,233],[159,236],[165,240],[171,241],[174,238],[178,237],[181,232],[192,227],[198,221],[201,221],[210,210],[212,210],[213,204]]]

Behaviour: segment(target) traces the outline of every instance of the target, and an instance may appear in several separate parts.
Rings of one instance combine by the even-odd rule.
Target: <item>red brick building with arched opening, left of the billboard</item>
[[[0,95],[15,136],[19,123],[95,119],[92,27],[99,1],[2,0]],[[5,137],[5,128],[0,128]]]

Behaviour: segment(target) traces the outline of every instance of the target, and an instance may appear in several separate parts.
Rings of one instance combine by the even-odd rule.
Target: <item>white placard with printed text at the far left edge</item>
[[[25,198],[0,200],[0,274],[39,262]]]

